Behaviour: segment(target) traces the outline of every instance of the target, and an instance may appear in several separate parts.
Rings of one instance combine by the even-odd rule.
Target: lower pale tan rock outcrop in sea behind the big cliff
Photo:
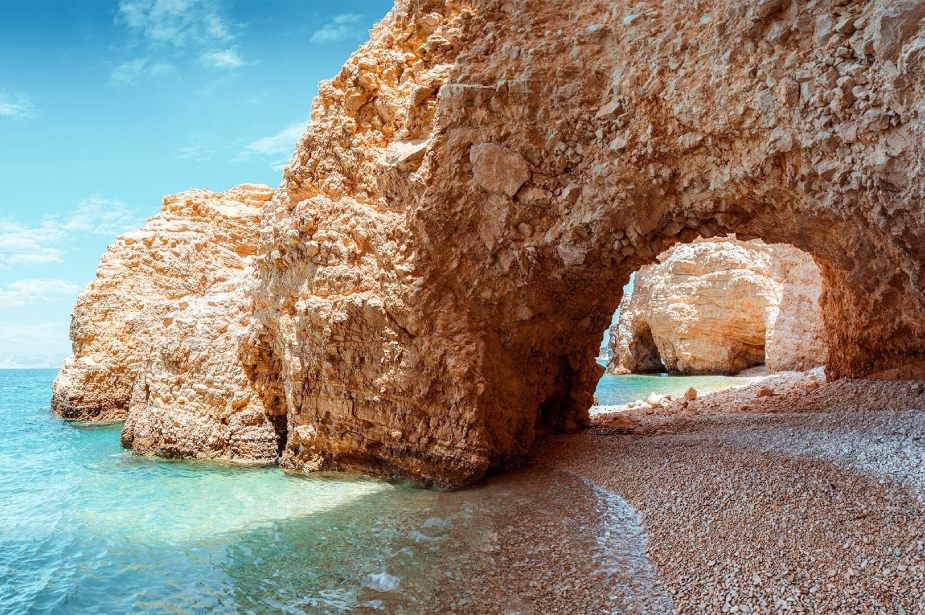
[[[66,418],[126,419],[123,443],[162,456],[273,460],[277,431],[244,370],[266,186],[168,196],[119,237],[74,309],[54,383]]]

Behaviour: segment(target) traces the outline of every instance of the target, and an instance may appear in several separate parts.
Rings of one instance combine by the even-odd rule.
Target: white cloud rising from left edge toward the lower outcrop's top
[[[0,268],[61,262],[74,235],[114,236],[138,226],[141,215],[121,201],[93,196],[65,216],[28,225],[0,219]]]

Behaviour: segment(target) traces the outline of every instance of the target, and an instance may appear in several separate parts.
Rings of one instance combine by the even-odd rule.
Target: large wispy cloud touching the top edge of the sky
[[[110,73],[115,83],[163,75],[177,63],[222,70],[247,64],[232,45],[237,27],[213,0],[121,0],[116,23],[135,37],[130,47],[144,54],[118,63]]]

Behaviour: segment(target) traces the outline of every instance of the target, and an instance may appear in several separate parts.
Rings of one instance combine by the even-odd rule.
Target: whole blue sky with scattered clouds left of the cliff
[[[391,2],[0,2],[0,368],[57,367],[70,311],[165,194],[275,186]]]

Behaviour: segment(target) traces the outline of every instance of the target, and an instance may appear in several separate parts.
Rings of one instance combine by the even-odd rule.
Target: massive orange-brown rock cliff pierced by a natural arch
[[[516,462],[587,422],[614,289],[701,236],[814,256],[830,377],[922,365],[921,6],[400,0],[264,208],[240,357],[283,463]]]

